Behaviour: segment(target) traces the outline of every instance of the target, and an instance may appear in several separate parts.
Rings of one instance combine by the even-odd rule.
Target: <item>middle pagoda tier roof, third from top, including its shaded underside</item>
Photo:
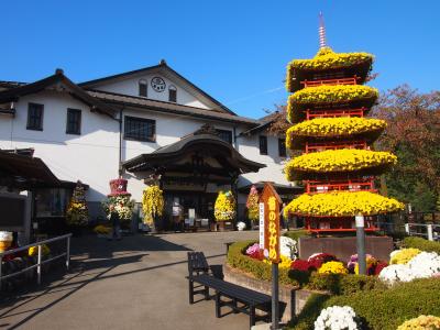
[[[316,118],[289,128],[286,132],[286,146],[290,150],[299,150],[306,142],[350,144],[353,141],[365,141],[372,143],[385,128],[386,122],[380,119]]]

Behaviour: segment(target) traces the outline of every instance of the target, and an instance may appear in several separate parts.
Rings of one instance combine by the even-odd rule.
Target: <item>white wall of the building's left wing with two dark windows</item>
[[[43,131],[26,130],[28,103],[44,105]],[[81,134],[66,134],[67,108],[81,110]],[[15,103],[15,118],[0,117],[0,148],[35,148],[59,178],[80,179],[90,186],[89,201],[109,194],[109,180],[118,177],[119,123],[92,113],[85,103],[52,91],[30,95]]]

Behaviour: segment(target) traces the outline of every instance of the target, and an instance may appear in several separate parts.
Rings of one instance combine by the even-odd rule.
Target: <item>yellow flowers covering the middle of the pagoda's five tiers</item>
[[[356,117],[316,118],[289,128],[286,132],[286,146],[293,148],[295,141],[304,136],[339,138],[362,133],[377,135],[385,128],[386,122],[380,119]]]

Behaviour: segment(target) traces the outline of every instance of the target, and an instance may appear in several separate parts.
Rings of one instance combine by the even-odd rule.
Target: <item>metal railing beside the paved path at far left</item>
[[[72,233],[69,234],[65,234],[62,237],[57,237],[57,238],[53,238],[53,239],[48,239],[48,240],[44,240],[44,241],[40,241],[40,242],[35,242],[29,245],[24,245],[24,246],[20,246],[13,250],[8,250],[6,252],[0,253],[0,289],[1,289],[1,284],[4,279],[10,278],[10,277],[14,277],[18,276],[20,274],[23,274],[30,270],[36,268],[36,282],[40,285],[41,284],[41,276],[42,276],[42,265],[50,263],[54,260],[58,260],[61,257],[66,257],[66,268],[69,268],[69,263],[70,263],[70,238],[72,238]],[[53,243],[56,241],[62,241],[62,240],[66,240],[66,252],[57,254],[51,258],[46,258],[46,260],[42,260],[42,245],[44,244],[48,244],[48,243]],[[30,248],[36,246],[37,248],[37,262],[34,265],[31,265],[29,267],[25,267],[23,270],[20,270],[19,272],[12,273],[12,274],[8,274],[8,275],[2,275],[2,261],[3,257],[10,254],[14,254],[21,251],[25,251]]]

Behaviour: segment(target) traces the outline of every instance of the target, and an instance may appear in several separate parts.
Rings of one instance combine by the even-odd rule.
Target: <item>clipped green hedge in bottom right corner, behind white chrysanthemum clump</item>
[[[292,329],[314,329],[321,309],[351,306],[369,329],[396,329],[405,320],[420,315],[440,315],[440,279],[425,278],[402,283],[388,289],[376,288],[342,296],[312,296]]]

